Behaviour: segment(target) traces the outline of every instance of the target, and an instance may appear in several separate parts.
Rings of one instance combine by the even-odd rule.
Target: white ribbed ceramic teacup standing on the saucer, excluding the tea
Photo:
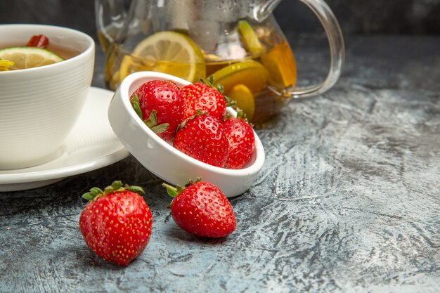
[[[31,167],[56,157],[91,85],[95,43],[82,32],[0,25],[0,48],[25,46],[34,34],[80,53],[52,65],[0,72],[0,169]]]

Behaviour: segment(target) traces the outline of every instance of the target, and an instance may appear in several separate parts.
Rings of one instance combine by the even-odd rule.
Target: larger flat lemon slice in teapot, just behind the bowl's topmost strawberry
[[[252,93],[258,93],[264,89],[269,79],[266,68],[254,60],[233,63],[214,72],[212,76],[214,85],[221,84],[226,95],[237,84],[243,84]]]

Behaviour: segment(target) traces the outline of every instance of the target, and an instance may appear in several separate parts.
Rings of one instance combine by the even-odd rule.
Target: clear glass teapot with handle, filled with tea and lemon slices
[[[321,84],[295,86],[294,55],[272,11],[281,0],[96,0],[98,39],[106,55],[105,84],[150,70],[190,82],[214,77],[252,122],[290,98],[330,89],[344,65],[339,24],[322,0],[299,0],[324,27],[330,70]]]

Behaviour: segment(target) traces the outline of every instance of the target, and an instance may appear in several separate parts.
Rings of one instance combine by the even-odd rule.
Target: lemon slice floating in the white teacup
[[[64,59],[51,51],[37,47],[9,47],[0,49],[0,59],[14,63],[10,70],[40,67],[63,61]]]

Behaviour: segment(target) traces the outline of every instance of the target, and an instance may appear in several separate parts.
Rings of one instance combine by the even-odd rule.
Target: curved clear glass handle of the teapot
[[[278,95],[283,95],[289,98],[307,98],[310,96],[320,95],[328,91],[339,79],[342,74],[345,60],[345,45],[344,37],[342,35],[341,27],[335,15],[330,10],[330,7],[323,0],[299,0],[306,6],[311,8],[313,13],[318,17],[325,34],[327,34],[328,43],[330,45],[330,70],[324,82],[321,84],[314,84],[311,86],[295,87],[295,89],[287,88],[283,89],[280,93],[276,89]]]

